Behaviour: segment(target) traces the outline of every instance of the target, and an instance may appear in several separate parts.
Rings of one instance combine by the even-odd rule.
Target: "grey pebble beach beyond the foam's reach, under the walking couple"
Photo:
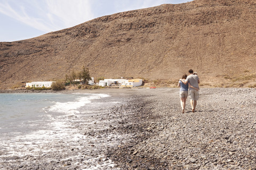
[[[177,89],[139,90],[119,129],[135,134],[108,156],[121,169],[256,169],[256,90],[200,90],[196,112]]]

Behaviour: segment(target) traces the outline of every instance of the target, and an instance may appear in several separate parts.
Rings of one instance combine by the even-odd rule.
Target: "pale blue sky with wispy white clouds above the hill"
[[[0,0],[0,42],[17,41],[118,12],[192,0]]]

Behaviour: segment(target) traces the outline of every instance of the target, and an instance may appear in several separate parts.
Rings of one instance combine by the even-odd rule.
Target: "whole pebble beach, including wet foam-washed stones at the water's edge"
[[[117,91],[114,97],[122,103],[93,115],[91,124],[77,126],[83,134],[77,139],[79,148],[68,143],[63,155],[49,154],[51,161],[46,159],[49,155],[41,155],[26,158],[34,166],[26,160],[24,164],[20,160],[19,166],[6,160],[6,165],[13,169],[256,169],[256,89],[201,89],[196,112],[191,112],[188,98],[185,114],[178,88]],[[68,155],[73,159],[64,160]]]

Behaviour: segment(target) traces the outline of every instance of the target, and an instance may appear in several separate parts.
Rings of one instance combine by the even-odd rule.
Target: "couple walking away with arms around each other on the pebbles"
[[[180,105],[182,108],[182,113],[185,113],[185,106],[188,94],[190,98],[192,112],[195,112],[196,103],[199,99],[198,83],[200,83],[200,80],[197,76],[197,73],[194,73],[192,69],[190,69],[188,72],[189,75],[187,76],[187,74],[184,74],[178,84],[178,87],[180,87]]]

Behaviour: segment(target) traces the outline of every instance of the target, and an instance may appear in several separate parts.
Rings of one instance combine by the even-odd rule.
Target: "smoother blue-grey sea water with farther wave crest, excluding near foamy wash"
[[[58,117],[78,114],[79,108],[102,97],[108,95],[0,94],[0,138],[47,129]]]

